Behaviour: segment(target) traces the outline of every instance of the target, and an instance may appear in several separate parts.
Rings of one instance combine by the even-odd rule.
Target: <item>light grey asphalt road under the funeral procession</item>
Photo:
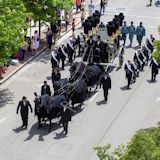
[[[158,37],[159,8],[146,5],[146,0],[109,1],[102,20],[107,22],[115,13],[124,12],[127,23],[143,21],[147,34]],[[81,31],[78,28],[76,33]],[[70,35],[65,35],[57,45],[65,43]],[[134,46],[136,44],[134,41]],[[125,52],[125,61],[132,59],[134,49],[127,48]],[[146,66],[131,89],[125,90],[124,70],[115,68],[107,104],[102,90],[98,89],[85,101],[83,110],[77,110],[73,116],[67,136],[61,133],[62,127],[56,124],[58,120],[53,121],[51,133],[48,134],[45,124],[39,130],[33,114],[29,115],[28,129],[22,130],[20,116],[16,115],[17,103],[25,95],[33,105],[33,92],[40,93],[46,79],[51,84],[49,59],[49,53],[44,52],[0,86],[0,160],[96,160],[93,146],[111,143],[115,147],[126,143],[138,129],[154,126],[160,120],[160,76],[156,83],[150,83],[150,69]],[[62,71],[63,77],[68,76],[67,69]]]

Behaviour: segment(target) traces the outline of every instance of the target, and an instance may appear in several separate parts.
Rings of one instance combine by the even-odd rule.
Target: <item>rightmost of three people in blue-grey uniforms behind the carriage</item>
[[[139,47],[141,47],[143,37],[146,35],[146,29],[143,27],[142,22],[140,22],[140,25],[136,29],[136,35]]]

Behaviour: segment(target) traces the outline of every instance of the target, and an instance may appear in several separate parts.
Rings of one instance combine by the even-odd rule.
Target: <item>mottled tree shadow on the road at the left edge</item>
[[[0,108],[7,104],[13,104],[14,93],[10,92],[9,89],[0,90]]]

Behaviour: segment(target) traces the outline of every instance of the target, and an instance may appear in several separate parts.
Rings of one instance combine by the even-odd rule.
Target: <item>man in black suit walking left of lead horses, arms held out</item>
[[[27,129],[27,126],[28,126],[28,110],[29,110],[28,107],[30,108],[31,113],[32,113],[32,106],[31,106],[30,102],[27,101],[26,97],[22,97],[22,100],[19,101],[19,104],[17,107],[17,114],[20,109],[21,118],[22,118],[22,122],[23,122],[22,127],[25,127],[25,129]]]

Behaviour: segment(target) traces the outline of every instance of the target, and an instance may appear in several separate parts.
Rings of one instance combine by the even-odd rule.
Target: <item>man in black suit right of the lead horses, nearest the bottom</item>
[[[68,104],[63,105],[63,111],[61,113],[61,120],[60,122],[63,125],[63,132],[65,135],[68,133],[68,122],[71,121],[71,111],[68,109]]]

